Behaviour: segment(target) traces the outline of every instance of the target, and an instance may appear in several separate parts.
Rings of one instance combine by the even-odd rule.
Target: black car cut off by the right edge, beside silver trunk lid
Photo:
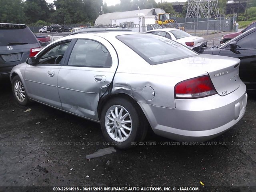
[[[214,48],[203,49],[200,53],[223,55],[241,60],[239,75],[248,90],[256,90],[256,28]]]

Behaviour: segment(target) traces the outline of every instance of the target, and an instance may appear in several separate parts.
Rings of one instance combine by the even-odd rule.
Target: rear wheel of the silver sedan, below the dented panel
[[[104,138],[120,149],[144,140],[148,130],[142,110],[136,102],[124,98],[109,100],[102,109],[100,120]]]

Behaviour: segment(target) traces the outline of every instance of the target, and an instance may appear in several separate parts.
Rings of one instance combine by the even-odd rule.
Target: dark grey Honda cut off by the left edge
[[[0,77],[15,65],[35,56],[41,47],[32,31],[23,24],[0,23]]]

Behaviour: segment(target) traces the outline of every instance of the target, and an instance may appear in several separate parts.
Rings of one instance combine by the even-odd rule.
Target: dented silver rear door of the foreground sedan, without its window
[[[112,66],[110,68],[62,66],[58,75],[58,92],[63,110],[99,120],[97,107],[102,94],[100,90],[112,81],[118,66],[118,57],[107,40],[98,36],[94,36],[94,40],[102,42],[108,49],[112,57]],[[105,78],[104,82],[96,82],[95,76]]]

